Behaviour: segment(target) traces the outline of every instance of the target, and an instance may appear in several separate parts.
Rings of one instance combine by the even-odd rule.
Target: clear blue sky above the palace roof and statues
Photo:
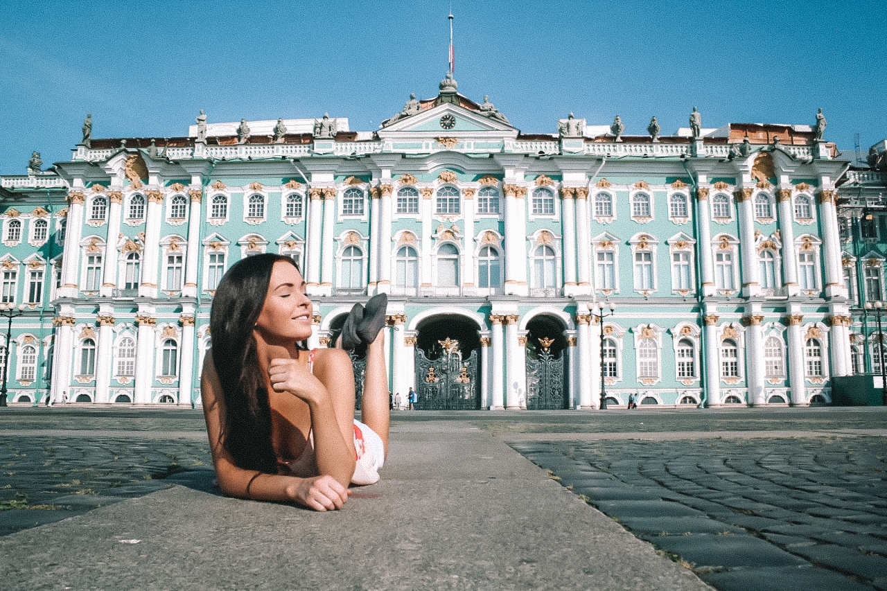
[[[434,97],[450,3],[0,4],[0,174],[70,158],[93,136],[209,122],[348,117],[374,130],[410,92]],[[489,94],[524,133],[570,111],[626,134],[726,122],[813,123],[851,158],[887,138],[887,3],[453,0],[459,92]]]

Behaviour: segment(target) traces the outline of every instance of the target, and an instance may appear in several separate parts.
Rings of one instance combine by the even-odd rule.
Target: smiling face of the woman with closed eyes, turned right
[[[268,294],[255,330],[265,343],[289,346],[311,335],[311,301],[302,273],[286,261],[271,267]]]

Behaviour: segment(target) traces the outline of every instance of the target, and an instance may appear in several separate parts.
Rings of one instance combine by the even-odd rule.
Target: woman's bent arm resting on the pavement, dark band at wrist
[[[348,499],[346,486],[333,477],[287,477],[241,469],[235,465],[231,453],[224,447],[224,437],[221,437],[225,419],[224,398],[211,354],[207,354],[203,363],[200,396],[203,399],[203,416],[207,421],[209,449],[223,493],[242,499],[294,500],[318,511],[341,508]]]

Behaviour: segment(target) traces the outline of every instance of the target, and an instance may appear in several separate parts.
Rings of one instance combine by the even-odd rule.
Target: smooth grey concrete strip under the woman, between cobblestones
[[[489,433],[395,422],[337,512],[178,485],[0,538],[4,589],[710,589]]]

